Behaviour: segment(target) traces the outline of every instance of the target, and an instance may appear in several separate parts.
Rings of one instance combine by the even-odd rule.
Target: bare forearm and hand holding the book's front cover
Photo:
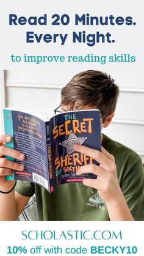
[[[99,196],[106,202],[110,221],[134,221],[118,183],[114,157],[103,147],[102,152],[82,145],[74,145],[74,149],[92,157],[100,164],[81,166],[77,175],[91,173],[98,176],[97,179],[84,179],[83,184],[98,189]]]

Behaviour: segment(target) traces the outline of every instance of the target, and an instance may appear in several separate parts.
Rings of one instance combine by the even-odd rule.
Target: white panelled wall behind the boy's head
[[[81,71],[81,70],[79,70]],[[48,70],[1,71],[1,108],[12,106],[41,114],[52,114],[59,106],[60,89],[79,72],[67,70],[57,73]],[[144,162],[144,84],[142,71],[131,69],[105,70],[120,86],[117,111],[112,125],[103,133],[134,149]]]

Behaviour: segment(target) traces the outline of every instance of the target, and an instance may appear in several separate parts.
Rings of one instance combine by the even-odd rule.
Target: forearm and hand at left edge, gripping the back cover
[[[10,191],[15,185],[14,181],[5,181],[5,175],[12,174],[12,170],[24,170],[24,166],[9,161],[4,156],[10,156],[16,159],[24,159],[24,154],[17,150],[5,147],[4,142],[10,142],[12,137],[0,136],[0,221],[13,221],[18,218],[29,197],[21,196],[15,189],[8,194],[2,192]]]

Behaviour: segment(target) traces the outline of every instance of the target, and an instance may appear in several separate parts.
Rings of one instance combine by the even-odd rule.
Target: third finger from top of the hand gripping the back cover
[[[9,161],[6,158],[1,158],[0,159],[0,167],[5,167],[8,169],[13,169],[13,170],[24,170],[24,165],[23,164],[18,164],[12,161]]]

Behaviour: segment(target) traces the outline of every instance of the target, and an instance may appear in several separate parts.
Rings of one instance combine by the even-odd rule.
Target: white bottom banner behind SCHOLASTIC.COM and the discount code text
[[[84,223],[84,225],[83,225]],[[103,225],[104,224],[104,225]],[[130,255],[137,255],[142,256],[144,254],[143,249],[143,236],[142,233],[140,233],[140,227],[142,227],[143,222],[115,222],[114,225],[112,225],[111,222],[2,222],[1,228],[4,230],[4,232],[0,232],[0,241],[4,241],[4,243],[1,244],[0,247],[0,254],[2,256],[9,255],[7,254],[7,247],[8,246],[26,246],[27,254],[11,254],[11,255],[32,255],[29,253],[30,249],[37,246],[42,247],[51,247],[51,246],[59,246],[62,247],[62,249],[65,249],[66,247],[86,247],[88,249],[88,253],[85,255],[98,255],[98,254],[90,254],[90,247],[91,246],[121,246],[121,247],[128,247],[128,246],[136,246],[137,247],[137,254],[130,254]],[[114,226],[114,227],[113,227]],[[11,229],[10,229],[11,228]],[[15,230],[15,236],[13,236],[13,230]],[[100,232],[97,232],[99,240],[64,240],[61,238],[60,240],[22,240],[21,232],[23,230],[27,230],[27,233],[31,230],[38,230],[38,233],[40,234],[41,230],[45,232],[46,230],[56,230],[56,238],[60,237],[60,233],[62,231],[65,232],[67,236],[68,230],[82,230],[83,232],[85,230],[90,230],[91,232],[95,232],[96,230],[99,230]],[[117,240],[113,237],[113,239],[110,240],[104,240],[102,239],[102,234],[104,230],[109,230],[109,232],[115,232],[116,235],[120,233],[122,235],[122,240],[120,240],[120,236]],[[73,232],[74,233],[74,232]],[[87,233],[88,234],[88,233]],[[89,235],[89,234],[88,234]],[[105,232],[104,237],[108,238],[107,232]],[[87,235],[86,235],[87,237]],[[89,237],[89,236],[88,236]],[[135,237],[137,240],[135,240]],[[31,238],[34,238],[34,233],[31,234]],[[40,238],[40,236],[38,236]],[[70,238],[70,236],[67,236],[67,238]],[[45,253],[41,254],[33,254],[33,255],[46,255]],[[53,254],[54,255],[54,254]],[[84,255],[84,254],[61,254],[61,255]],[[101,254],[99,254],[101,255]],[[102,254],[107,255],[107,254]],[[109,254],[109,255],[129,255],[129,254]]]

